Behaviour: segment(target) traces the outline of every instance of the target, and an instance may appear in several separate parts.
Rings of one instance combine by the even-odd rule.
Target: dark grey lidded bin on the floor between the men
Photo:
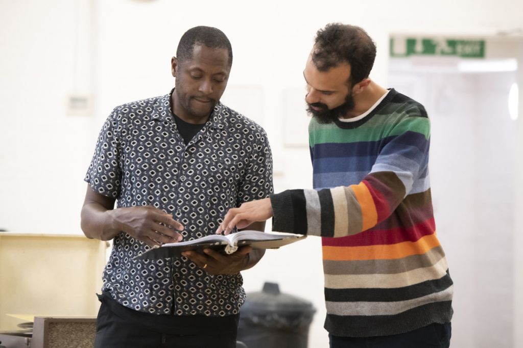
[[[282,294],[278,284],[267,282],[263,291],[247,293],[238,341],[248,348],[306,348],[315,311],[311,302]]]

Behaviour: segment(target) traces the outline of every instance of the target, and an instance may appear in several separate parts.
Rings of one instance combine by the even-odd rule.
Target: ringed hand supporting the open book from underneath
[[[212,249],[204,249],[203,254],[196,251],[184,251],[181,255],[196,263],[209,274],[237,274],[247,269],[249,253],[252,249],[250,246],[243,246],[231,255],[225,255]]]

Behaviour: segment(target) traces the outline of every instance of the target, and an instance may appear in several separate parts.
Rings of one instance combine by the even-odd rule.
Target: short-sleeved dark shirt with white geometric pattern
[[[116,107],[100,131],[85,181],[117,207],[154,206],[185,226],[184,240],[213,234],[229,208],[272,193],[265,130],[218,103],[187,145],[170,94]],[[225,316],[245,301],[243,279],[210,275],[186,258],[134,260],[149,249],[127,233],[113,240],[103,290],[153,314]]]

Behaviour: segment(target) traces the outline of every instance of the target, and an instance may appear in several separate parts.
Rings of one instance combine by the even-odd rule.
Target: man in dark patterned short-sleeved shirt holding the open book
[[[264,129],[220,102],[232,57],[220,30],[189,29],[171,62],[175,88],[116,107],[100,132],[82,208],[85,235],[113,241],[96,347],[235,346],[240,271],[263,251],[135,259],[212,234],[228,209],[272,193]]]

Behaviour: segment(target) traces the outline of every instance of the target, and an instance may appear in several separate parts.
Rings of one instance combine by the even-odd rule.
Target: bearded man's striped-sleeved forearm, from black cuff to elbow
[[[374,172],[357,185],[293,189],[271,195],[272,229],[322,237],[366,231],[388,218],[405,197],[395,172]]]

